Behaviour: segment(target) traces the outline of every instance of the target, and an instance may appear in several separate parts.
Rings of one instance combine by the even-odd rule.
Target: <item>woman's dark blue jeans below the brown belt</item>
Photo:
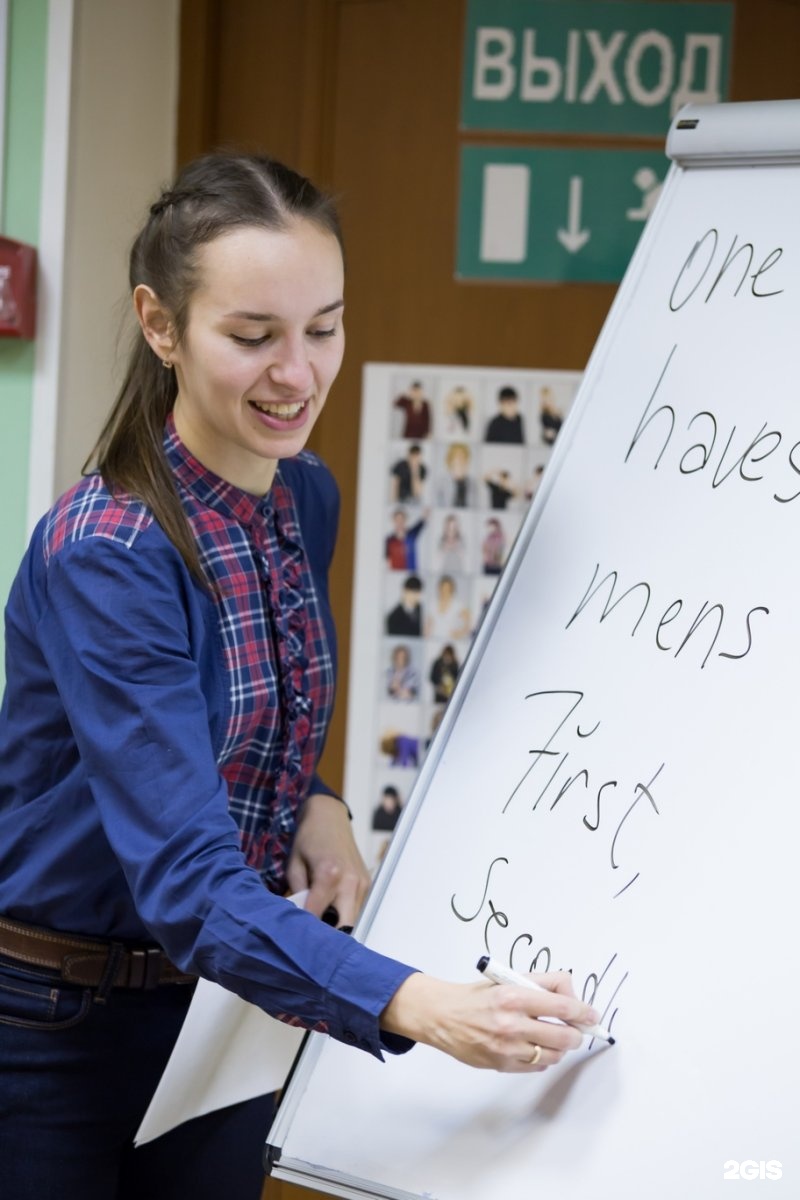
[[[273,1097],[133,1148],[192,988],[90,989],[0,956],[2,1200],[259,1200]]]

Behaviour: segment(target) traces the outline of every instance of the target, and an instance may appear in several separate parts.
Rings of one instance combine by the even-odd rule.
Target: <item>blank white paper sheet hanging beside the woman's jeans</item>
[[[291,899],[302,907],[306,894]],[[303,1033],[225,988],[199,979],[134,1145],[152,1141],[192,1117],[283,1087]]]

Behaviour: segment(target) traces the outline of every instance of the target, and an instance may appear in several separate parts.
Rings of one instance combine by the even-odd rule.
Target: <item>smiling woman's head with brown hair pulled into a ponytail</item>
[[[338,215],[309,180],[275,160],[206,155],[151,205],[128,278],[140,331],[92,460],[112,486],[151,505],[200,578],[163,461],[164,421],[170,414],[200,461],[224,468],[222,478],[253,494],[267,491],[275,461],[305,445],[341,365]],[[330,353],[312,354],[329,341]],[[266,428],[271,413],[275,432],[294,434],[271,454],[253,440],[259,404],[267,407]]]

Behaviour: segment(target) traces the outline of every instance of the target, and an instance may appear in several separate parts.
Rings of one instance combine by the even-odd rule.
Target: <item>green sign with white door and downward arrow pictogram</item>
[[[662,151],[463,146],[457,277],[618,282],[668,166]]]

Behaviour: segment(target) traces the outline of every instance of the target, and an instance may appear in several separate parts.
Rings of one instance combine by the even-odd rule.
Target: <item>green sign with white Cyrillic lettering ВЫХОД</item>
[[[462,130],[666,137],[728,98],[732,4],[469,0]]]

